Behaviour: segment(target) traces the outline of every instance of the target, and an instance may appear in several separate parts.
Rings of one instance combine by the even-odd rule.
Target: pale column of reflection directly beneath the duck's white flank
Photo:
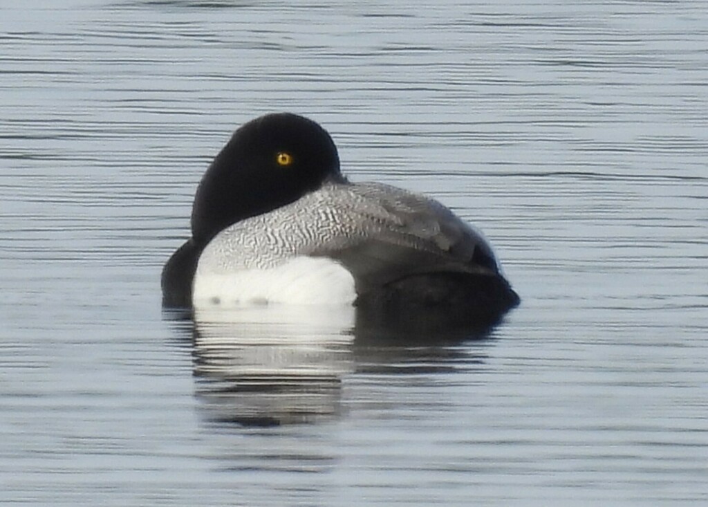
[[[194,372],[207,417],[273,426],[336,416],[342,377],[353,370],[353,313],[352,307],[197,310]]]

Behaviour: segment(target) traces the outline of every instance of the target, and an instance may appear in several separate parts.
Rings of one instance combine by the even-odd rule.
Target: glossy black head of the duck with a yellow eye
[[[290,113],[251,120],[202,177],[192,209],[193,239],[206,244],[225,227],[292,203],[328,180],[345,181],[326,130]]]

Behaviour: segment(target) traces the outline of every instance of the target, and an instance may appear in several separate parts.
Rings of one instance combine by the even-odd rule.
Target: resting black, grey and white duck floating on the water
[[[481,233],[423,195],[350,183],[317,123],[246,123],[195,195],[192,237],[162,272],[164,305],[456,307],[497,319],[519,302]]]

